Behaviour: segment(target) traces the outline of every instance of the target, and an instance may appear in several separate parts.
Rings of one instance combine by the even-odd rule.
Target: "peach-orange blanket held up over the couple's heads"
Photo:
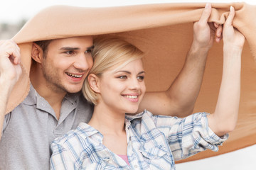
[[[201,152],[188,162],[231,152],[256,143],[256,6],[244,3],[212,4],[209,22],[223,24],[230,6],[235,7],[233,26],[245,35],[242,52],[241,99],[238,125],[219,152]],[[142,51],[147,91],[166,90],[183,66],[193,40],[193,22],[205,4],[149,4],[107,8],[51,6],[31,18],[14,36],[21,47],[23,74],[12,91],[6,113],[26,98],[29,91],[31,45],[36,40],[80,35],[111,34],[124,38]],[[197,111],[213,113],[223,67],[223,43],[215,43],[208,55]],[[33,73],[31,73],[33,74]]]

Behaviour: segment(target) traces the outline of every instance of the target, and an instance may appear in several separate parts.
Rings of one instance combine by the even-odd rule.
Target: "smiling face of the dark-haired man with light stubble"
[[[92,37],[57,39],[50,42],[42,71],[46,87],[76,93],[92,68]]]

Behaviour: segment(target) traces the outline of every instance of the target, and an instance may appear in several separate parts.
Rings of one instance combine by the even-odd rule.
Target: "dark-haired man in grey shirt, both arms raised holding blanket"
[[[215,35],[216,41],[221,38],[221,26],[207,23],[210,12],[207,5],[200,21],[194,23],[191,50],[174,83],[167,91],[146,94],[139,111],[146,108],[156,114],[178,116],[192,113],[208,50]],[[0,169],[49,169],[50,142],[90,120],[93,108],[80,90],[92,67],[92,48],[90,36],[33,43],[30,92],[4,115],[21,67],[16,43],[0,42]]]

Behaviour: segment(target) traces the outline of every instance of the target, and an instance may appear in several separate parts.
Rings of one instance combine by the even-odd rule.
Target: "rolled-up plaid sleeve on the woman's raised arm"
[[[218,137],[208,127],[208,113],[195,113],[186,118],[156,115],[155,123],[166,135],[175,160],[185,159],[206,149],[218,151],[228,134]]]

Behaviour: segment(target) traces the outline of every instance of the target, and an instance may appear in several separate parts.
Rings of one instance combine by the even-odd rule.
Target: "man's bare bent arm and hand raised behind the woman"
[[[184,117],[193,112],[203,81],[208,50],[221,40],[222,26],[208,23],[211,6],[206,4],[200,20],[193,25],[193,42],[186,62],[167,91],[147,92],[139,106],[155,115]]]

